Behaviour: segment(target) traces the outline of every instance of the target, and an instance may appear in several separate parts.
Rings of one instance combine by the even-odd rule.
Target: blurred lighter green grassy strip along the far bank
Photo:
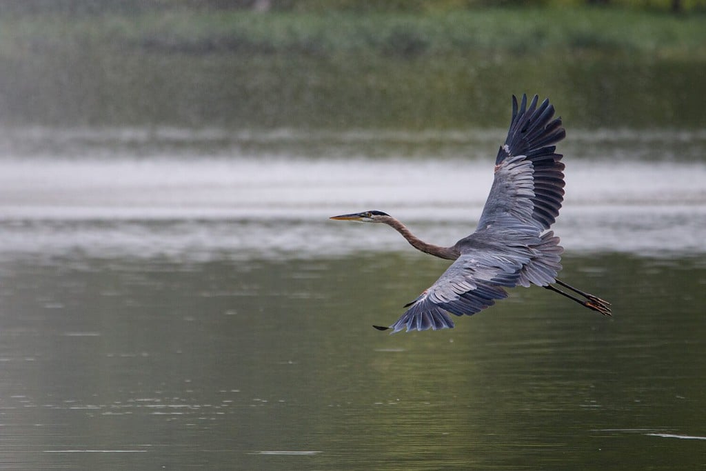
[[[620,8],[479,8],[438,13],[167,10],[135,16],[0,18],[3,54],[100,44],[186,54],[644,54],[706,60],[706,16]]]

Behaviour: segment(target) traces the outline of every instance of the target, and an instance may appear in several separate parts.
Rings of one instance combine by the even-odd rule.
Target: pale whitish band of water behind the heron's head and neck
[[[407,250],[387,228],[328,220],[368,209],[395,215],[420,237],[453,244],[479,217],[492,182],[496,146],[489,141],[500,135],[22,133],[35,136],[34,143],[6,141],[0,159],[5,256],[80,249],[96,256],[241,259]],[[706,165],[690,158],[693,142],[704,136],[665,134],[673,154],[663,155],[647,131],[644,138],[624,131],[577,134],[562,149],[567,193],[554,227],[569,251],[671,256],[705,250]],[[621,147],[623,140],[630,145]],[[296,153],[285,155],[282,141]],[[378,156],[361,149],[345,155],[357,141],[363,150],[374,146]],[[246,149],[253,142],[258,148]],[[306,157],[305,143],[313,156]],[[618,143],[621,153],[606,157],[609,143]],[[408,155],[413,144],[428,154]],[[441,155],[431,155],[435,147]]]

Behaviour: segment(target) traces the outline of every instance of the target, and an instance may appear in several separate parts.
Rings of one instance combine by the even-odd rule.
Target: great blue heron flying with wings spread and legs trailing
[[[382,211],[346,214],[335,220],[382,222],[393,227],[415,249],[440,258],[455,260],[441,278],[407,304],[405,314],[390,327],[375,326],[393,333],[407,328],[426,330],[453,328],[447,313],[456,316],[477,313],[508,294],[503,287],[537,285],[611,315],[610,303],[558,280],[563,248],[549,227],[559,214],[564,195],[563,155],[554,152],[566,132],[554,106],[544,100],[537,107],[534,95],[517,106],[513,95],[513,118],[508,137],[498,150],[495,178],[481,213],[478,227],[450,247],[436,246],[414,237],[394,217]],[[545,232],[546,231],[546,232]],[[553,284],[577,294],[562,291]]]

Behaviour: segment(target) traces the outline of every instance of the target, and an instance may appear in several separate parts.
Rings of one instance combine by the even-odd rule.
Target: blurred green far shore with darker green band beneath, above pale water
[[[706,126],[701,13],[452,3],[7,13],[0,122],[501,126],[530,91],[578,126]]]

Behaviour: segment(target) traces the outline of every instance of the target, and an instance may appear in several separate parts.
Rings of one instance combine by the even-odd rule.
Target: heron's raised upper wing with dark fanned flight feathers
[[[513,96],[513,119],[505,144],[495,161],[495,179],[483,208],[478,228],[500,225],[507,217],[522,224],[549,229],[559,214],[564,195],[564,165],[554,153],[566,132],[561,118],[552,120],[554,107],[544,100],[537,107],[527,95],[517,109]]]

